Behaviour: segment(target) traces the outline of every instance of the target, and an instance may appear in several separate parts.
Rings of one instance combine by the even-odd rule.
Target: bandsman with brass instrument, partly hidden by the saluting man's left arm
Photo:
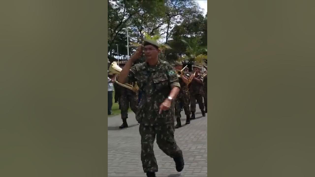
[[[181,62],[175,63],[175,69],[182,70],[183,64]],[[185,115],[186,115],[186,124],[190,124],[190,109],[189,109],[189,96],[188,96],[188,78],[189,74],[181,75],[179,79],[180,83],[180,92],[176,97],[176,106],[175,106],[175,115],[176,115],[176,122],[175,128],[181,127],[181,109],[184,107]]]

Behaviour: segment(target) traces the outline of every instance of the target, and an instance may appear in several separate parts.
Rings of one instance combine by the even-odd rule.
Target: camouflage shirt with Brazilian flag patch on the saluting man
[[[160,105],[169,96],[172,88],[180,84],[173,66],[163,60],[158,60],[156,66],[146,62],[130,68],[127,82],[137,82],[141,90],[141,98],[136,114],[138,123],[144,125],[159,125],[174,123],[175,102],[172,101],[169,110],[159,114]]]

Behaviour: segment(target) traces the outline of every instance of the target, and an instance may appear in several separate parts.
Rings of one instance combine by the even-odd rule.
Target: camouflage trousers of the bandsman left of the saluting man
[[[138,94],[122,94],[119,98],[119,106],[122,119],[128,118],[129,106],[131,110],[136,113],[138,106]]]

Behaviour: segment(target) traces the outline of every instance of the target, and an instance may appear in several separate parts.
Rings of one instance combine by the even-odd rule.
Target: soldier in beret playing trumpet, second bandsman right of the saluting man
[[[190,93],[190,110],[192,111],[191,119],[195,119],[196,112],[196,100],[198,102],[199,108],[201,110],[202,116],[205,117],[203,105],[203,77],[200,74],[201,66],[194,65],[191,76],[193,77],[192,82],[189,84],[189,93]],[[193,73],[196,72],[196,75],[193,76]]]

